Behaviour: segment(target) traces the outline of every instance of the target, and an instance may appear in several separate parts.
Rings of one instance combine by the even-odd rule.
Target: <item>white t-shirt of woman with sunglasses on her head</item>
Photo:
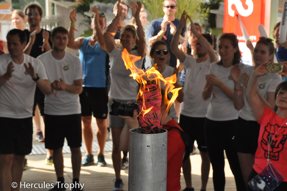
[[[252,72],[254,71],[254,68],[255,66],[243,68],[243,70],[241,70],[241,74],[246,72],[248,75],[251,75]],[[278,84],[280,84],[281,82],[282,82],[282,77],[281,75],[278,75],[278,73],[267,73],[266,75],[260,76],[258,78],[257,87],[259,89],[260,94],[263,96],[263,98],[267,100],[267,92],[275,92]],[[247,88],[242,83],[241,83],[241,86],[243,86],[244,106],[239,111],[239,117],[247,121],[256,121],[254,113],[252,111],[252,108],[246,96]]]

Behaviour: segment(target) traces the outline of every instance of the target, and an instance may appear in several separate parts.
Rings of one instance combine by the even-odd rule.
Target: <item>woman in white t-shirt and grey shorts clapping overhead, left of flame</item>
[[[121,29],[120,32],[120,43],[122,48],[118,49],[114,45],[114,35],[117,30],[122,26],[119,26],[120,16],[122,15],[122,7],[118,3],[118,12],[112,23],[107,27],[106,32],[104,33],[106,51],[110,56],[110,77],[111,77],[111,87],[109,91],[109,112],[111,111],[111,105],[113,100],[118,100],[121,103],[126,104],[128,101],[136,102],[137,98],[137,82],[130,77],[130,70],[126,69],[124,61],[122,59],[123,49],[126,49],[129,55],[135,55],[141,57],[140,60],[135,62],[135,65],[138,68],[141,68],[142,61],[145,56],[145,39],[143,27],[141,21],[139,20],[139,12],[141,10],[141,3],[134,2],[130,3],[133,16],[135,17],[137,23],[137,33],[134,26],[127,25]],[[137,39],[138,35],[138,39]],[[137,44],[137,50],[132,50],[134,44]],[[112,140],[113,140],[113,151],[112,151],[112,160],[114,165],[114,170],[116,173],[116,181],[114,190],[122,189],[122,179],[120,177],[121,170],[121,153],[120,153],[120,134],[124,127],[125,120],[119,116],[109,115],[109,127],[112,131]]]

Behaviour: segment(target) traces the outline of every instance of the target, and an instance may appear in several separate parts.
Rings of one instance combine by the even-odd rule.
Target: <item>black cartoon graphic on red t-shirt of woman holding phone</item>
[[[271,135],[271,137],[270,137]],[[280,152],[283,150],[287,138],[287,127],[281,127],[277,124],[271,125],[270,123],[265,126],[265,131],[262,135],[261,147],[265,151],[265,158],[268,158],[269,148],[269,159],[274,161],[279,160]]]

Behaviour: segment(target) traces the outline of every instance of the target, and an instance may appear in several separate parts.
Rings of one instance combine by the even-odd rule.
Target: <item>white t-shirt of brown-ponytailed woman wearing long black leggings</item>
[[[218,65],[216,62],[210,64],[208,73],[215,74],[225,85],[230,89],[234,89],[234,81],[231,78],[229,68],[224,68],[222,65]],[[240,63],[239,68],[242,70],[247,67],[245,64]],[[229,121],[238,119],[239,111],[234,108],[233,101],[228,98],[223,91],[217,86],[214,86],[212,91],[211,100],[207,108],[206,117],[214,121]]]

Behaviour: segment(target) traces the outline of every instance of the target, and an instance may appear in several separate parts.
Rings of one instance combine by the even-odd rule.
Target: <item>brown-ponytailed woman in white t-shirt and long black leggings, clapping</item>
[[[245,191],[246,186],[234,149],[234,129],[238,119],[238,111],[233,106],[234,81],[230,70],[240,63],[238,41],[234,34],[225,33],[219,39],[220,61],[210,65],[206,75],[206,84],[202,92],[204,100],[211,98],[205,120],[205,140],[213,169],[213,185],[215,191],[224,190],[224,150],[230,169],[235,177],[237,191]]]

